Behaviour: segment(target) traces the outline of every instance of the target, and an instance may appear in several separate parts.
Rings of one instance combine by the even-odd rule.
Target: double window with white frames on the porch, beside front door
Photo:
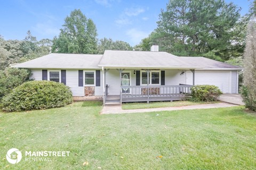
[[[160,77],[161,77],[160,71],[151,71],[149,73],[149,82],[148,83],[151,85],[154,85],[154,84],[159,85],[160,81],[161,81]],[[145,71],[141,72],[141,84],[142,85],[147,84],[147,72],[145,72]]]

